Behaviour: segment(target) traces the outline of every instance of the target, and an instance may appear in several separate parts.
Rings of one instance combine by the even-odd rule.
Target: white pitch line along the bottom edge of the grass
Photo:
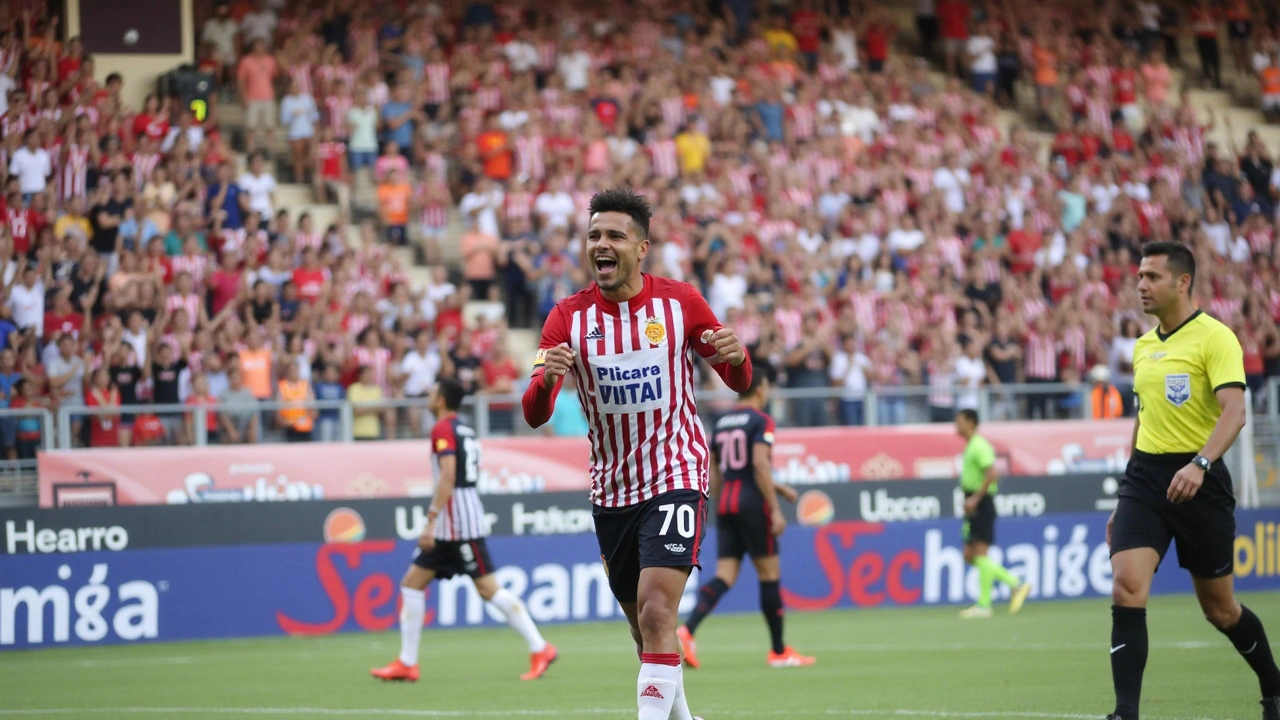
[[[306,715],[306,716],[384,716],[384,717],[564,717],[613,715],[628,716],[635,708],[582,707],[577,710],[394,710],[394,708],[333,708],[333,707],[49,707],[26,710],[0,710],[0,716],[50,716],[50,715]],[[714,708],[709,714],[714,714]],[[724,710],[735,717],[781,717],[795,716],[787,710]],[[942,720],[966,720],[982,717],[1006,717],[1010,720],[1097,720],[1098,712],[1037,712],[1037,711],[952,711],[952,710],[908,710],[908,708],[850,708],[803,711],[832,717],[938,717]],[[1148,716],[1148,720],[1215,720],[1212,717]]]

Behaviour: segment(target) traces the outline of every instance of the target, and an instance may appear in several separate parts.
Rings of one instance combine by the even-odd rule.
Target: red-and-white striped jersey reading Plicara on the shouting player
[[[719,322],[689,283],[644,275],[626,302],[594,283],[559,301],[543,325],[543,351],[575,352],[579,401],[590,424],[591,502],[620,507],[677,489],[707,493],[709,452],[694,400],[692,354],[714,356],[703,333]],[[541,424],[554,396],[543,388],[539,352],[525,416]],[[750,382],[750,360],[713,365],[731,388]]]

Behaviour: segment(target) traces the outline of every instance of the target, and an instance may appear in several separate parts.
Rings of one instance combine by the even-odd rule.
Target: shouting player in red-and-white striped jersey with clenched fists
[[[586,258],[595,282],[552,309],[525,391],[545,423],[572,372],[590,421],[591,503],[600,559],[640,651],[640,720],[690,720],[676,624],[701,544],[709,452],[694,404],[695,351],[730,388],[751,360],[692,286],[640,272],[649,205],[628,188],[591,197]]]

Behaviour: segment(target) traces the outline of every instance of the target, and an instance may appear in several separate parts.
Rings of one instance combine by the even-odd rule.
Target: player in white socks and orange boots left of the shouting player
[[[424,589],[435,578],[470,575],[480,592],[507,616],[507,623],[529,643],[529,673],[521,680],[534,680],[556,661],[556,646],[539,634],[529,610],[509,591],[498,587],[485,537],[484,506],[476,491],[480,479],[480,442],[476,432],[458,418],[465,392],[452,378],[436,383],[428,401],[439,418],[431,429],[431,455],[435,460],[435,493],[426,511],[426,527],[419,538],[419,551],[401,580],[401,653],[385,667],[370,670],[383,680],[417,680],[417,644],[426,615]]]

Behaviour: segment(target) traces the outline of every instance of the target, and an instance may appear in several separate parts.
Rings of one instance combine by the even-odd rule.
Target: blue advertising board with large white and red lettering
[[[1275,512],[1240,511],[1236,519],[1236,587],[1280,588]],[[1036,600],[1106,597],[1105,525],[1102,512],[1009,518],[998,527],[992,555],[1032,583]],[[393,628],[397,583],[413,543],[369,539],[348,525],[334,529],[348,542],[6,556],[0,566],[0,650]],[[705,547],[716,547],[713,536]],[[796,611],[972,602],[977,571],[965,568],[959,538],[960,523],[950,518],[790,528],[781,542],[783,601]],[[536,621],[621,621],[594,537],[507,536],[492,538],[490,546],[499,582],[524,598]],[[1190,591],[1172,552],[1153,592]],[[709,564],[710,553],[703,560]],[[749,571],[742,582],[751,582]],[[695,575],[686,606],[696,587]],[[755,596],[732,592],[721,607],[754,610]],[[498,621],[466,579],[429,591],[431,626]]]

